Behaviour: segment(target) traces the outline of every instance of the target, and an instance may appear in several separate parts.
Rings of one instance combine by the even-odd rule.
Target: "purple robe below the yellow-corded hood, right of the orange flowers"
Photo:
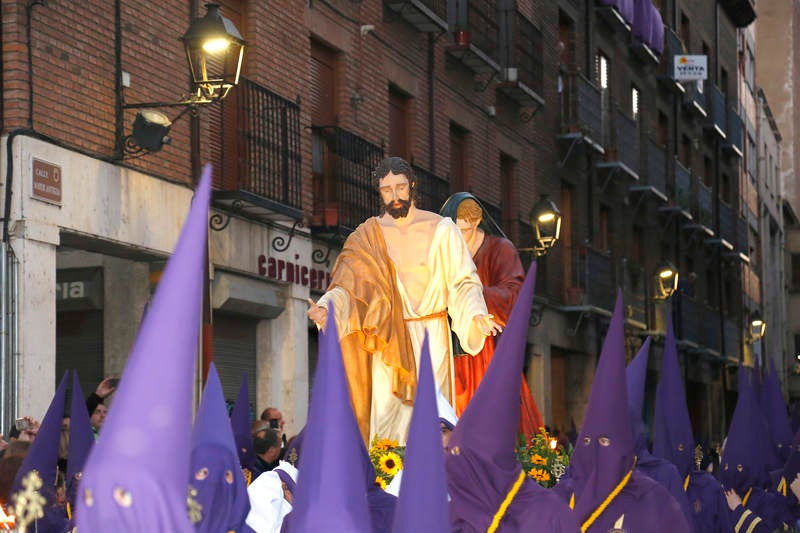
[[[562,480],[553,491],[568,502],[573,494],[573,481]],[[667,489],[636,470],[633,471],[625,487],[611,500],[586,532],[607,533],[615,526],[621,526],[619,529],[626,533],[691,531],[680,505],[670,496]]]

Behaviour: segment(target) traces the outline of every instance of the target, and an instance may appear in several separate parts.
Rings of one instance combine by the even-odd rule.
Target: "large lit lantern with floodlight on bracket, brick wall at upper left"
[[[187,112],[196,113],[199,105],[219,102],[239,84],[246,43],[233,22],[222,16],[219,7],[213,2],[206,4],[205,16],[195,19],[181,37],[192,74],[191,94],[178,102],[123,105],[124,109],[141,111],[136,113],[130,135],[122,136],[120,131],[120,152],[134,156],[158,152],[169,143],[172,124]],[[184,109],[170,120],[156,110],[163,107]]]

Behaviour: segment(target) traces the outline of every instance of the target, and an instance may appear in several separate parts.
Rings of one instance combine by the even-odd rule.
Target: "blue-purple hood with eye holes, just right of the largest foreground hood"
[[[228,423],[225,395],[217,367],[211,363],[208,380],[192,432],[189,485],[202,518],[197,531],[239,531],[250,512],[247,485]]]

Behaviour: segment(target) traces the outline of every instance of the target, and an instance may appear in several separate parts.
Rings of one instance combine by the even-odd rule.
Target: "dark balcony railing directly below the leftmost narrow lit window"
[[[603,131],[600,89],[580,73],[566,79],[562,100],[562,133],[583,133],[599,142]]]

